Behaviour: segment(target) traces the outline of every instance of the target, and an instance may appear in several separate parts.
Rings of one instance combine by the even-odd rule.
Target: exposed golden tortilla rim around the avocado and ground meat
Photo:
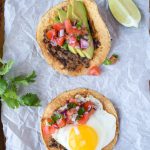
[[[83,0],[83,2],[87,9],[89,21],[91,22],[95,30],[94,37],[96,37],[101,43],[101,46],[94,51],[93,58],[90,61],[89,68],[91,68],[92,66],[99,66],[103,63],[103,61],[107,57],[107,54],[110,50],[111,42],[110,42],[109,31],[98,12],[98,8],[97,8],[95,1]],[[69,4],[69,1],[65,1],[65,2],[59,3],[57,6],[48,10],[48,12],[41,18],[38,24],[36,39],[42,50],[44,58],[46,59],[48,64],[50,64],[55,70],[57,70],[58,72],[62,74],[70,75],[70,76],[86,75],[89,72],[89,68],[80,67],[80,68],[77,68],[75,71],[68,71],[68,69],[64,69],[63,65],[49,53],[48,49],[43,43],[43,31],[48,26],[53,24],[53,18],[56,16],[57,9],[67,6],[68,4]]]

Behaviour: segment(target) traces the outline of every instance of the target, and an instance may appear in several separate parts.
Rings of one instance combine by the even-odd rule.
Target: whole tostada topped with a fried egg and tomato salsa
[[[112,150],[118,134],[113,104],[89,89],[60,94],[41,119],[41,135],[48,150]]]

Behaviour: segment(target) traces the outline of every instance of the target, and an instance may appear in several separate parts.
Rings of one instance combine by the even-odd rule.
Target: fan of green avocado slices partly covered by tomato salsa
[[[77,0],[72,0],[71,4],[69,4],[67,6],[67,12],[65,12],[62,9],[58,10],[58,15],[60,18],[60,22],[64,22],[67,18],[69,18],[70,20],[78,20],[80,22],[82,22],[82,24],[87,27],[88,29],[88,39],[89,39],[89,47],[87,49],[85,49],[84,51],[82,51],[81,49],[78,48],[73,48],[72,46],[68,45],[68,49],[70,52],[74,53],[74,54],[79,54],[80,57],[87,57],[89,59],[91,59],[93,57],[93,53],[94,53],[94,45],[93,45],[93,39],[90,33],[90,28],[89,28],[89,24],[88,24],[88,19],[87,19],[87,12],[86,12],[86,8],[83,4],[83,2],[81,1],[77,1]]]

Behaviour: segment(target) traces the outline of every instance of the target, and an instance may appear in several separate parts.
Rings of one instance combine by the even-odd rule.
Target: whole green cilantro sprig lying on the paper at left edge
[[[14,61],[9,60],[7,63],[4,63],[0,59],[0,63],[0,99],[12,109],[19,108],[20,106],[40,106],[40,99],[36,94],[27,93],[22,96],[18,94],[18,90],[21,85],[27,86],[35,82],[35,71],[29,75],[20,75],[12,79],[8,79],[5,75],[12,68]]]

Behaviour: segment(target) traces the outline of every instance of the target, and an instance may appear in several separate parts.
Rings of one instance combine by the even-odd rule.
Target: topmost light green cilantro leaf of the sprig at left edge
[[[2,63],[2,67],[0,67],[0,75],[3,76],[10,71],[12,65],[14,64],[14,61],[9,60],[7,63],[3,63],[3,61],[0,60],[0,62]]]

